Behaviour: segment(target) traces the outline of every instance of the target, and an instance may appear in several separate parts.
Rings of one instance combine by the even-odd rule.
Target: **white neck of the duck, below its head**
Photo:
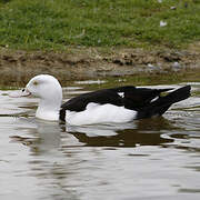
[[[58,121],[59,111],[61,107],[61,99],[40,99],[36,117],[43,120]]]

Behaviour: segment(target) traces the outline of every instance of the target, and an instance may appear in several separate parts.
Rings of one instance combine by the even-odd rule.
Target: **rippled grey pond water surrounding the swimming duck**
[[[103,86],[74,82],[64,100],[88,83]],[[0,199],[199,200],[200,82],[191,84],[163,118],[121,126],[37,120],[37,99],[0,91]]]

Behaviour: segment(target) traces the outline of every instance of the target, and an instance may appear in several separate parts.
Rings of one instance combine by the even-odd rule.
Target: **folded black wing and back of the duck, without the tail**
[[[127,109],[140,110],[147,107],[151,100],[160,97],[161,92],[171,89],[149,89],[136,88],[133,86],[102,89],[89,93],[83,93],[70,99],[61,106],[60,118],[66,118],[66,110],[83,111],[88,103],[94,102],[99,104],[111,103],[114,106],[123,106]]]

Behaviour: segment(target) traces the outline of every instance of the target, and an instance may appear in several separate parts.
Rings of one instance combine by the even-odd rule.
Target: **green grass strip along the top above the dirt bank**
[[[200,40],[199,13],[199,0],[0,0],[0,46],[183,48]]]

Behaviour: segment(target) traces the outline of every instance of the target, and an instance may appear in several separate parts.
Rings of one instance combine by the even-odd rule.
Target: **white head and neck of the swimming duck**
[[[49,74],[33,77],[22,91],[22,96],[30,94],[40,98],[36,113],[37,118],[53,121],[59,120],[62,88],[54,77]]]

